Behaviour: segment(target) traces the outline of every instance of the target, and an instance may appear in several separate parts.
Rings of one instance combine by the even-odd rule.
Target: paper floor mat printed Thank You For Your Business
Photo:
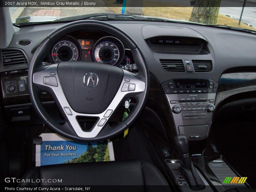
[[[111,141],[81,142],[68,140],[56,133],[42,133],[42,144],[36,145],[36,166],[114,161]]]

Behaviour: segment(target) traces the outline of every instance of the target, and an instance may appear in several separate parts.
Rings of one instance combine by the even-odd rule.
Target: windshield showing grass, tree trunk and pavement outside
[[[13,24],[17,26],[79,19],[144,20],[143,17],[147,17],[148,19],[161,18],[165,19],[162,21],[169,22],[178,20],[180,22],[256,30],[256,0],[238,0],[237,2],[240,3],[235,4],[235,6],[229,4],[230,1],[228,0],[216,0],[214,4],[210,4],[209,2],[212,1],[208,1],[208,7],[205,7],[204,0],[173,0],[172,4],[168,3],[171,0],[136,0],[135,3],[132,1],[134,0],[127,2],[126,0],[38,1],[35,5],[21,3],[19,7],[15,4],[9,5],[12,6],[9,9]],[[20,0],[18,2],[26,3],[29,1]],[[183,4],[179,4],[180,2]],[[97,17],[93,17],[95,13],[98,15],[101,13],[101,16],[96,14]],[[109,17],[104,16],[103,13],[118,15]],[[136,17],[124,17],[120,14],[136,15]],[[74,17],[78,15],[83,17]],[[89,17],[86,17],[87,15]]]

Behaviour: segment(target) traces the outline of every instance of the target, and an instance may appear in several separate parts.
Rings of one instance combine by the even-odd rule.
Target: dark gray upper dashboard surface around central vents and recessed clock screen
[[[150,74],[162,83],[171,78],[208,78],[219,82],[220,76],[230,68],[250,67],[256,64],[255,34],[233,31],[229,29],[152,21],[106,21],[124,30],[139,45],[144,54]],[[31,60],[36,46],[54,29],[65,23],[54,23],[22,27],[12,38],[9,48],[22,49],[28,60]],[[110,34],[111,35],[111,34]],[[189,52],[156,52],[148,44],[149,38],[159,36],[179,36],[200,38],[205,42],[205,54]],[[27,46],[16,44],[18,40],[32,41]],[[90,39],[90,37],[88,37]],[[168,46],[168,45],[163,45]],[[177,46],[178,47],[178,46]],[[160,47],[161,48],[161,47]],[[175,48],[175,47],[174,47]],[[50,49],[50,48],[49,48]],[[161,66],[161,60],[211,60],[210,72],[167,72]],[[1,72],[28,68],[28,66],[3,67]]]

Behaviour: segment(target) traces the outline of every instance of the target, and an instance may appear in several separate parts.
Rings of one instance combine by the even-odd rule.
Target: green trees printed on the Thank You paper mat
[[[108,141],[97,142],[96,145],[88,142],[87,150],[84,154],[67,161],[66,163],[83,163],[83,162],[98,162],[110,161]]]

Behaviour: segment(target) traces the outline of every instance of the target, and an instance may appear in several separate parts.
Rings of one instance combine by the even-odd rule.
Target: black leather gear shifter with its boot
[[[204,182],[199,177],[192,161],[189,159],[187,137],[182,134],[176,135],[174,137],[174,148],[180,157],[180,172],[188,181],[190,188],[194,191],[204,189]]]

